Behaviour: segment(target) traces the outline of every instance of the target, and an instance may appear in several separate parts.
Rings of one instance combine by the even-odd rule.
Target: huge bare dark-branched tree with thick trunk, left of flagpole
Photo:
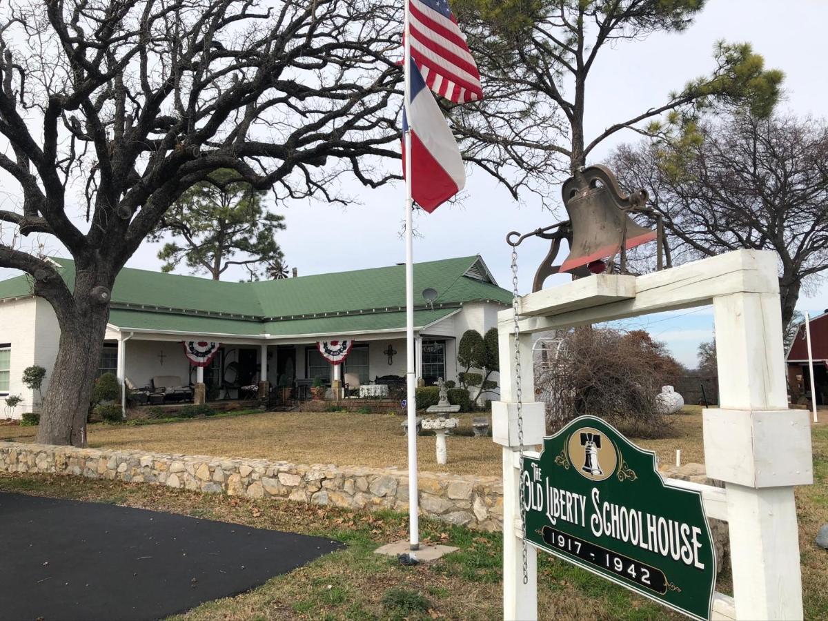
[[[0,168],[21,200],[0,211],[0,266],[30,275],[60,324],[39,441],[84,444],[115,277],[191,185],[224,168],[282,197],[335,200],[343,171],[392,178],[376,156],[399,156],[394,5],[3,4]],[[34,233],[65,246],[73,283],[24,248]]]

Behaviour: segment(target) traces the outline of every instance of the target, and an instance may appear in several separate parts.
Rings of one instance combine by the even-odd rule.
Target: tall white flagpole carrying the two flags
[[[416,480],[416,372],[414,370],[414,239],[412,232],[412,115],[411,115],[411,37],[408,36],[410,8],[405,2],[405,109],[408,121],[406,141],[406,405],[408,407],[408,532],[411,550],[420,549],[420,508]]]

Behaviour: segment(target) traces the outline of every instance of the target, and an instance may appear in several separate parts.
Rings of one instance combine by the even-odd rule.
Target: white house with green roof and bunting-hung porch
[[[55,258],[67,282],[74,262]],[[457,343],[465,330],[484,334],[512,294],[494,281],[479,256],[414,266],[416,369],[419,378],[457,379]],[[320,340],[354,339],[342,377],[403,378],[406,366],[405,267],[378,267],[267,282],[216,282],[125,268],[113,287],[100,373],[137,386],[158,376],[192,385],[196,369],[185,341],[209,340],[219,353],[205,368],[212,398],[238,397],[238,386],[333,378],[316,350]],[[421,295],[437,291],[436,300]],[[46,392],[60,329],[45,300],[33,296],[29,277],[0,282],[0,398],[20,395],[13,416],[31,412],[39,396],[22,383],[23,369],[46,368]],[[218,395],[216,395],[218,392]],[[210,395],[209,395],[210,396]],[[2,405],[2,402],[0,402]]]

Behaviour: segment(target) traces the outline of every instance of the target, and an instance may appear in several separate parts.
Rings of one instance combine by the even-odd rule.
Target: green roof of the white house
[[[71,287],[75,262],[55,258]],[[426,288],[436,289],[434,310],[423,310]],[[479,256],[416,263],[416,327],[450,315],[470,301],[511,304]],[[0,282],[0,299],[30,296],[27,276]],[[137,330],[199,334],[314,335],[397,330],[405,326],[405,266],[287,278],[220,282],[124,268],[113,287],[110,323]],[[321,316],[320,316],[321,315]]]

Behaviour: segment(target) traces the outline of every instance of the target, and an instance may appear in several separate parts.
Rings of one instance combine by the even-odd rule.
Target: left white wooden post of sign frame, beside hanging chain
[[[509,332],[512,310],[498,314],[500,323],[500,401],[492,403],[492,439],[503,446],[503,619],[537,619],[537,550],[527,545],[527,583],[523,584],[523,545],[520,510],[520,442],[517,437],[517,373],[514,335]],[[524,448],[542,444],[545,407],[535,401],[532,335],[520,337]]]

